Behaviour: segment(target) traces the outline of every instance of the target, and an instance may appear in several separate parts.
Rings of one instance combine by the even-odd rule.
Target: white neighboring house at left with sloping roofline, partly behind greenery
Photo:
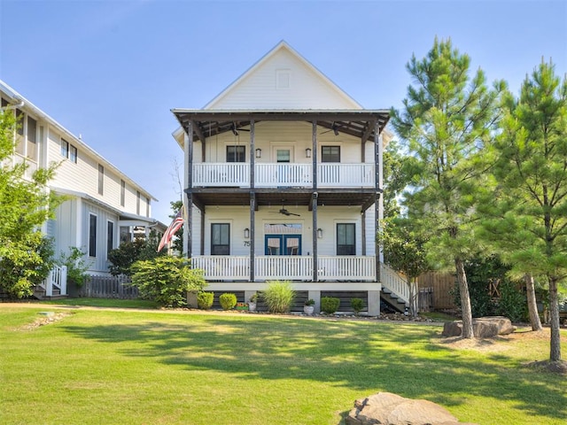
[[[77,247],[86,253],[89,274],[108,274],[107,253],[120,242],[148,235],[151,228],[163,233],[166,226],[151,218],[151,201],[157,199],[147,190],[4,81],[0,95],[2,108],[21,117],[12,160],[25,160],[27,175],[60,163],[49,186],[67,200],[43,227],[53,238],[56,258]]]

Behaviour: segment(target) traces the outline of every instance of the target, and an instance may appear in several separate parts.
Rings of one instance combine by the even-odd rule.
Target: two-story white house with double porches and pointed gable
[[[172,112],[191,205],[185,250],[207,290],[247,302],[289,280],[294,309],[332,296],[349,311],[363,298],[372,315],[381,290],[407,301],[376,242],[388,110],[363,109],[280,42],[203,109]]]

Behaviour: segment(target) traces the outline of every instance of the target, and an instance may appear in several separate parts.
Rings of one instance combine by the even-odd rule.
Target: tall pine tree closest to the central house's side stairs
[[[416,86],[408,87],[403,112],[392,124],[416,158],[405,205],[427,235],[428,258],[452,265],[461,295],[462,336],[473,338],[464,261],[477,251],[473,235],[476,192],[483,188],[480,152],[491,138],[503,83],[486,86],[481,70],[470,79],[470,58],[450,40],[436,38],[422,60],[407,65]]]

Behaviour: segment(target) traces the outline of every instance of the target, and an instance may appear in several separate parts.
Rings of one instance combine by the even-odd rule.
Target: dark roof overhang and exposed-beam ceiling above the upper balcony
[[[353,135],[363,141],[372,141],[375,137],[375,126],[381,133],[390,120],[388,110],[282,110],[282,111],[206,111],[190,109],[172,109],[185,133],[189,123],[193,123],[193,141],[205,141],[206,137],[219,135],[229,131],[237,132],[239,128],[250,128],[251,120],[260,121],[317,121],[322,128],[335,130],[338,133]]]

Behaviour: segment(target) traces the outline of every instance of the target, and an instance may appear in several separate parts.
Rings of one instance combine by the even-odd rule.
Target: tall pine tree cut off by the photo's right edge
[[[557,288],[567,280],[567,80],[542,62],[526,77],[519,99],[508,94],[505,105],[493,169],[501,220],[485,227],[509,235],[513,270],[548,281],[549,359],[559,361]]]

